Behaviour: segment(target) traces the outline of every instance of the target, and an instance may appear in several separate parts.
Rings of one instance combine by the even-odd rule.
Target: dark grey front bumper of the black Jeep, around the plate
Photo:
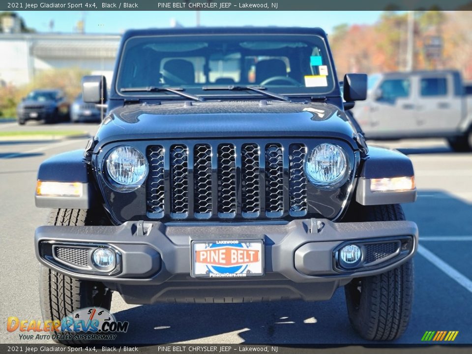
[[[193,278],[193,240],[264,240],[265,275],[247,278]],[[339,269],[336,250],[347,241],[362,245],[408,240],[408,246],[373,266]],[[69,276],[102,281],[129,303],[240,302],[303,298],[329,299],[354,277],[393,269],[411,257],[418,230],[411,221],[333,223],[325,219],[294,220],[286,224],[165,225],[129,221],[120,226],[41,226],[36,229],[38,260]],[[97,274],[58,262],[53,246],[109,246],[117,251],[117,269]],[[317,283],[314,285],[313,283]]]

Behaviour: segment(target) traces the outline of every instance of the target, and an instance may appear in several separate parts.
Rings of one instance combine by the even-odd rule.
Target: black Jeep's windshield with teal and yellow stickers
[[[323,38],[316,35],[144,36],[126,41],[117,79],[123,95],[146,87],[182,88],[196,94],[234,94],[229,86],[255,86],[282,94],[326,95],[335,80]],[[222,91],[204,88],[218,88]],[[260,95],[254,91],[248,95]],[[335,94],[339,96],[339,93]]]

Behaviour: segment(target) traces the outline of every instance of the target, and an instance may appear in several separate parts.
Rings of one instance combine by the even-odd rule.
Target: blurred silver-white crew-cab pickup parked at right
[[[353,114],[367,139],[437,137],[472,150],[472,87],[455,70],[371,75],[367,100]]]

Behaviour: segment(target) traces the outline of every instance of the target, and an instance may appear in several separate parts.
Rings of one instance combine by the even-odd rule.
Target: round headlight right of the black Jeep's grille
[[[305,175],[319,188],[331,189],[344,182],[348,168],[343,148],[320,144],[306,156]]]

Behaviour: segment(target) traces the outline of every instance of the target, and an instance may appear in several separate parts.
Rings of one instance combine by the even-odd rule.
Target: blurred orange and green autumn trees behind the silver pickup
[[[470,12],[416,11],[414,13],[413,69],[458,69],[472,80]],[[374,25],[340,25],[330,34],[339,78],[348,72],[405,70],[408,13],[386,11]],[[441,38],[439,57],[428,56],[430,37]]]

